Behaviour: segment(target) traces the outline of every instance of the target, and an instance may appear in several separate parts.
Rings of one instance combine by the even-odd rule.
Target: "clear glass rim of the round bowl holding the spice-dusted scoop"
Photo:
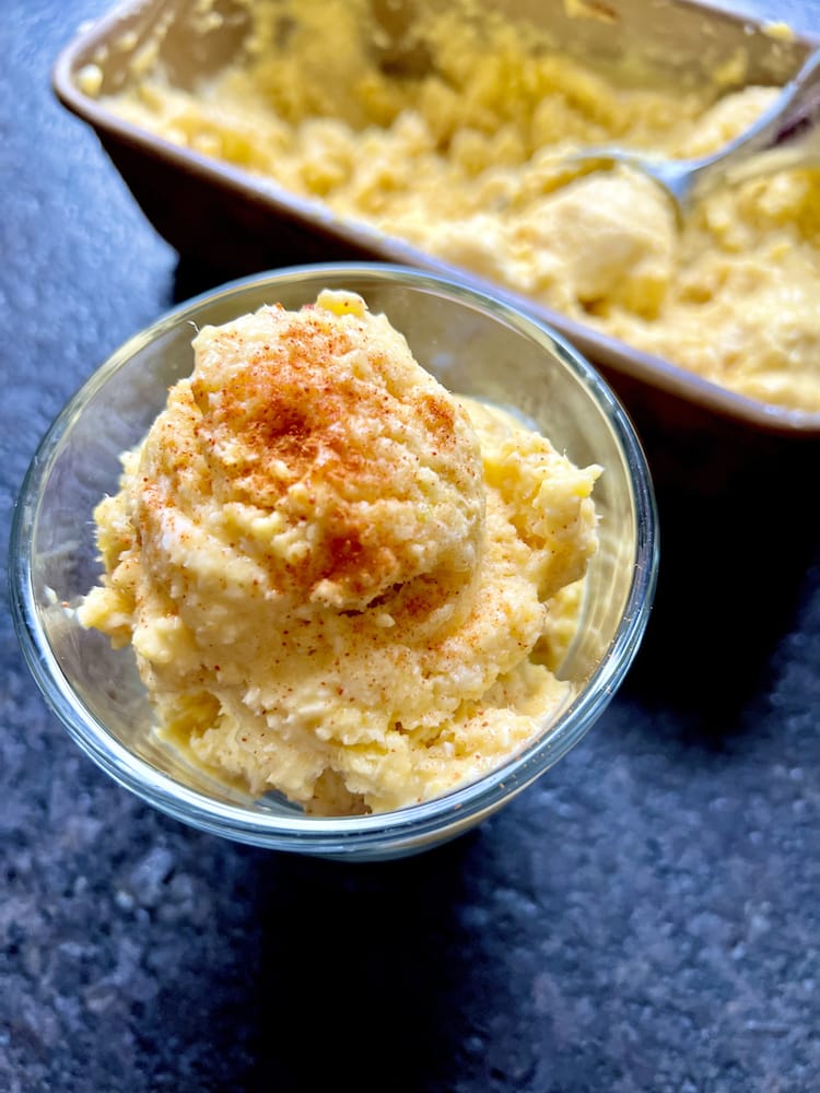
[[[636,514],[634,572],[623,618],[587,685],[546,737],[506,764],[445,797],[395,812],[342,818],[251,813],[241,806],[208,798],[156,771],[110,737],[79,702],[38,624],[28,545],[38,516],[40,484],[47,480],[63,435],[90,399],[136,352],[169,327],[195,321],[203,307],[238,291],[260,283],[290,284],[342,274],[365,282],[387,280],[444,292],[540,342],[575,373],[609,422],[630,471]],[[585,736],[620,686],[648,622],[658,568],[657,508],[651,471],[624,408],[597,369],[552,328],[457,278],[384,262],[323,262],[254,273],[199,293],[166,310],[115,350],[68,401],[40,440],[14,507],[9,561],[12,618],[32,675],[51,712],[102,769],[155,808],[200,830],[256,846],[336,856],[386,846],[409,847],[435,839],[443,827],[460,831],[471,826],[540,777]]]

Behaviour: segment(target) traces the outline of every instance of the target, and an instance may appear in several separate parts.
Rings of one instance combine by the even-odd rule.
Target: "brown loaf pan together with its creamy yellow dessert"
[[[270,265],[283,234],[304,257],[309,231],[456,269],[526,301],[597,363],[755,424],[817,431],[820,171],[718,189],[679,222],[636,171],[567,161],[609,142],[719,148],[806,56],[787,27],[681,3],[235,0],[119,14],[63,58],[58,91],[180,249],[218,261],[256,237]],[[166,183],[174,173],[164,214],[144,162],[129,169],[147,152]],[[197,212],[212,231],[186,224],[186,180],[194,196],[206,184]]]

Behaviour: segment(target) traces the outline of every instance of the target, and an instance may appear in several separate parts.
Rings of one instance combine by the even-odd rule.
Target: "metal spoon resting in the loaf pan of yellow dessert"
[[[574,153],[573,163],[611,166],[625,163],[644,172],[672,198],[682,215],[718,186],[789,167],[820,165],[820,50],[783,89],[760,118],[719,151],[691,160],[670,160],[622,148],[589,148]]]

